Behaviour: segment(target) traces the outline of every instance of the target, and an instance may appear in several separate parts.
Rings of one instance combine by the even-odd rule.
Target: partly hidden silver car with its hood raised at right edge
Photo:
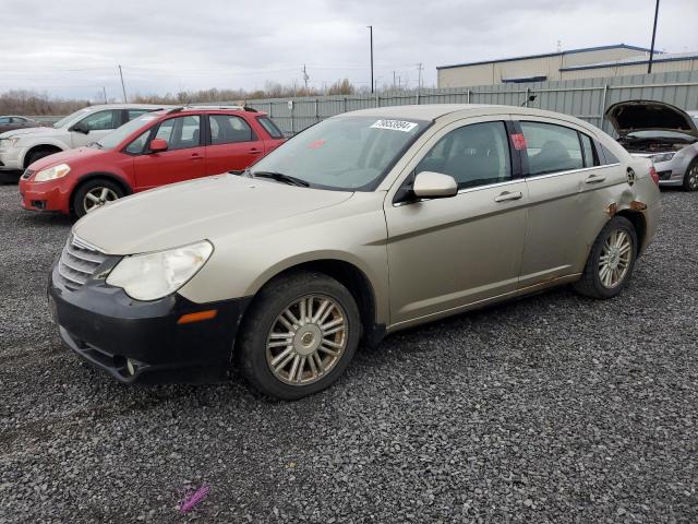
[[[698,190],[698,111],[654,100],[614,104],[606,118],[618,142],[636,156],[654,163],[660,186]]]

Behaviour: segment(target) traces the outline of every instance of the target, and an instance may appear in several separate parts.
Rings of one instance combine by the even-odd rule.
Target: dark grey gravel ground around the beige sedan
[[[430,324],[274,403],[80,362],[44,291],[70,222],[16,192],[0,187],[0,522],[698,522],[696,193],[663,193],[615,300],[559,289]]]

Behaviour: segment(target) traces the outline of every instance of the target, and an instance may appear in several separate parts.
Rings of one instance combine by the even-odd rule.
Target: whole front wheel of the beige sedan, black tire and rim
[[[322,273],[298,272],[272,281],[255,297],[241,326],[236,360],[254,389],[296,401],[333,384],[349,366],[360,336],[351,293]]]

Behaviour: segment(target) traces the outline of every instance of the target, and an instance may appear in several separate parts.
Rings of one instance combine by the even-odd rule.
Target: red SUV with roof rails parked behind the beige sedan
[[[22,206],[83,216],[127,194],[242,170],[286,139],[264,112],[178,107],[145,114],[86,147],[41,158],[22,175]]]

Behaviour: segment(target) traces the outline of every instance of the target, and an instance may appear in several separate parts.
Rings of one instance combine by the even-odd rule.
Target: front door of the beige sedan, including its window
[[[386,201],[392,325],[517,288],[528,190],[512,168],[506,118],[491,120],[449,124],[408,166],[453,176],[457,195]]]

